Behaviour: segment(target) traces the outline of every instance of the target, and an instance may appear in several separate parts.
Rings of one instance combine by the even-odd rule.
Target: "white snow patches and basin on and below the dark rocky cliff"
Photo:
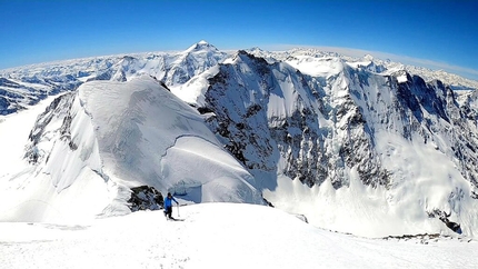
[[[293,76],[296,70],[292,67],[298,68],[302,73],[317,76],[323,80],[335,78],[333,82],[325,88],[326,98],[330,98],[333,106],[339,107],[345,101],[345,98],[350,94],[349,88],[360,88],[364,96],[353,97],[353,101],[361,108],[372,108],[361,110],[361,114],[374,129],[375,150],[380,156],[384,168],[394,173],[391,177],[394,180],[386,187],[365,186],[357,169],[347,167],[343,175],[350,180],[348,187],[335,189],[330,180],[326,180],[320,186],[309,188],[299,180],[292,181],[283,175],[283,167],[287,166],[288,160],[282,159],[279,160],[277,173],[271,176],[273,178],[271,181],[277,183],[277,187],[262,189],[263,197],[276,207],[288,212],[303,213],[309,218],[310,223],[317,227],[365,237],[425,232],[455,235],[442,221],[428,215],[435,209],[441,209],[452,212],[449,220],[460,223],[464,235],[476,236],[476,227],[478,227],[478,220],[474,217],[478,215],[476,201],[469,195],[460,195],[470,193],[472,187],[446,155],[451,153],[437,150],[449,148],[450,138],[446,132],[436,132],[434,141],[424,142],[418,136],[409,140],[404,139],[400,132],[394,130],[404,130],[407,123],[396,114],[389,116],[389,126],[384,124],[384,117],[390,112],[390,107],[396,100],[395,93],[384,87],[387,82],[385,76],[370,72],[367,74],[366,83],[352,84],[353,80],[345,76],[343,70],[348,69],[351,72],[350,68],[353,68],[353,64],[330,57],[296,57],[275,66],[271,73],[276,88],[270,94],[260,96],[261,88],[258,87],[260,76],[253,72],[248,76],[258,63],[241,53],[227,63],[222,67],[222,74],[229,78],[228,88],[238,89],[225,90],[222,93],[227,94],[223,99],[229,100],[223,107],[231,111],[229,116],[231,118],[237,117],[233,111],[239,110],[240,107],[235,102],[252,103],[255,98],[268,100],[262,106],[267,106],[268,109],[269,127],[276,127],[275,120],[282,124],[298,107],[305,106],[303,103],[313,108],[313,111],[319,111],[316,109],[318,106],[315,103],[316,99],[308,96],[301,83],[295,80],[297,77]],[[370,61],[360,62],[357,66],[370,63]],[[210,72],[195,77],[177,89],[177,94],[188,102],[202,107],[200,93],[202,92],[203,96],[209,87],[208,78],[217,72],[217,69],[211,69]],[[404,72],[397,79],[405,82],[407,76]],[[242,94],[243,88],[255,94],[250,97]],[[300,100],[303,100],[302,103]],[[348,113],[353,112],[353,110],[348,111]],[[340,131],[347,129],[349,118],[342,117],[341,121],[333,122],[331,117],[328,120],[325,116],[318,117],[321,128],[337,130],[330,142],[323,146],[326,148],[323,150],[338,153],[341,142],[352,136],[347,131]],[[447,123],[440,122],[440,124]],[[259,130],[260,126],[251,126],[251,128]],[[288,129],[289,133],[291,131]],[[302,130],[297,131],[301,133]],[[333,172],[337,170],[331,169],[330,173]],[[268,180],[267,176],[260,173],[255,176],[257,180]]]

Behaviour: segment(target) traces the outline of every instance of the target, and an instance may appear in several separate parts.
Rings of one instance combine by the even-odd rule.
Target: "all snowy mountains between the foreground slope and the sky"
[[[101,59],[81,72],[87,63],[71,61],[74,76],[61,63],[30,69],[82,86],[28,123],[29,141],[2,131],[16,139],[12,121],[28,110],[0,118],[2,148],[26,158],[2,158],[3,219],[72,217],[82,205],[91,208],[77,219],[125,213],[129,188],[147,185],[192,202],[261,203],[262,195],[360,236],[478,235],[476,91],[311,50],[228,56],[201,41]]]

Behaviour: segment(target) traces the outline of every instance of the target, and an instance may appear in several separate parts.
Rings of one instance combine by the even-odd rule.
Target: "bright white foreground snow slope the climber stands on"
[[[179,213],[183,221],[141,211],[76,226],[0,223],[0,262],[10,269],[472,268],[478,262],[477,242],[464,238],[364,239],[251,205],[195,205]]]

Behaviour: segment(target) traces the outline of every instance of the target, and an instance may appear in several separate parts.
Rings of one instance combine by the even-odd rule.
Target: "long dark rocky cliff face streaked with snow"
[[[399,82],[398,76],[407,80]],[[278,98],[289,104],[278,104]],[[277,107],[286,112],[271,112]],[[468,111],[464,118],[465,109],[440,81],[375,74],[345,63],[336,76],[313,78],[240,51],[209,79],[200,110],[213,112],[210,129],[252,173],[276,172],[283,162],[278,172],[291,179],[309,187],[330,179],[338,189],[348,186],[346,171],[353,168],[365,185],[388,187],[395,176],[376,150],[379,130],[425,143],[444,132],[456,145],[450,158],[478,187],[471,172],[477,140],[469,127],[476,116]]]

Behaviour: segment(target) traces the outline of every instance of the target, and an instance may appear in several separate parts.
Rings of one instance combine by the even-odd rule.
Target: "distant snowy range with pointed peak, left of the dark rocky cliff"
[[[175,87],[226,58],[226,52],[200,41],[179,52],[96,57],[0,70],[0,114],[23,110],[91,80],[126,81],[146,73]]]

